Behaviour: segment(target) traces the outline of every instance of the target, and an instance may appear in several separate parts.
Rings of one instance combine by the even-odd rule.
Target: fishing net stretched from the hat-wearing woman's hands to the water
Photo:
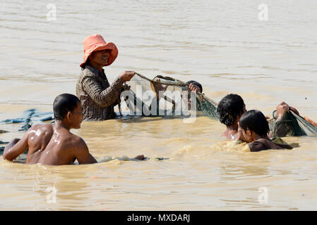
[[[124,85],[124,103],[120,105],[122,115],[138,116],[197,116],[204,115],[217,119],[217,103],[200,92],[189,91],[189,84],[172,77],[157,75],[149,79],[136,72]]]

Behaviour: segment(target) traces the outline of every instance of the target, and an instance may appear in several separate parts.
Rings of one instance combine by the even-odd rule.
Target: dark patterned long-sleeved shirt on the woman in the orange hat
[[[114,106],[119,103],[124,80],[117,77],[109,84],[104,70],[87,65],[81,71],[76,84],[76,95],[80,99],[83,110],[83,120],[109,120],[116,116]]]

